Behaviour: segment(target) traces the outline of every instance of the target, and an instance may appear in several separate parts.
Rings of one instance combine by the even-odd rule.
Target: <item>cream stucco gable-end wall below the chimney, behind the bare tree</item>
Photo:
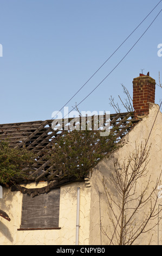
[[[155,119],[156,115],[157,118]],[[148,180],[148,177],[151,175],[151,183],[148,191],[149,194],[149,192],[152,191],[152,187],[155,185],[155,182],[157,181],[157,178],[159,177],[162,170],[162,114],[159,111],[159,106],[155,104],[150,104],[149,115],[144,117],[143,120],[138,123],[132,131],[127,133],[127,135],[125,136],[127,143],[124,145],[124,147],[120,148],[114,155],[109,157],[109,159],[104,159],[103,161],[101,161],[98,166],[96,166],[93,170],[92,178],[90,180],[92,185],[92,198],[90,207],[90,244],[109,244],[109,239],[107,235],[111,237],[111,231],[113,231],[111,230],[110,219],[108,217],[107,200],[105,197],[105,190],[102,184],[103,177],[105,177],[105,179],[107,180],[106,185],[108,190],[111,191],[112,195],[115,198],[116,191],[110,180],[110,175],[114,169],[114,161],[118,159],[118,161],[123,162],[125,157],[129,155],[129,153],[133,153],[135,149],[135,143],[137,145],[140,145],[141,142],[145,143],[145,140],[148,137],[149,139],[147,145],[151,145],[149,156],[150,162],[147,166],[148,174],[145,178],[143,178],[142,183],[138,184],[138,191],[142,189],[142,186],[144,186],[144,182]],[[99,211],[96,211],[96,209],[99,208],[99,191],[101,214],[99,213]],[[118,200],[118,198],[115,198],[115,200]],[[160,205],[162,205],[161,197],[158,198],[157,208],[162,208],[162,206]],[[145,212],[141,212],[139,214],[139,220],[141,218],[141,221],[142,216],[144,216],[144,214],[148,212],[147,206],[143,211]],[[116,212],[116,214],[118,213]],[[160,213],[159,217],[161,216],[162,213]],[[103,232],[100,232],[100,220],[103,228],[105,228],[104,230],[107,229],[107,235],[103,234]],[[147,225],[147,228],[151,228],[152,225],[156,224],[157,222],[158,216],[156,216],[154,220]],[[155,225],[155,227],[151,229],[148,233],[140,235],[139,239],[136,240],[136,244],[139,245],[148,245],[149,243],[151,245],[157,245],[158,242],[159,245],[162,245],[162,220],[159,222],[159,225]]]

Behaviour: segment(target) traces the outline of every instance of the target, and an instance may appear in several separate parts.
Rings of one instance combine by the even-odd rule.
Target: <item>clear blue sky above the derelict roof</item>
[[[0,123],[46,120],[61,109],[105,62],[159,0],[0,0]],[[111,72],[162,8],[162,2],[118,52],[66,105],[84,99]],[[162,12],[138,44],[101,85],[79,105],[80,111],[110,111],[112,95],[123,99],[121,83],[132,95],[141,69],[162,81],[158,57]],[[156,87],[155,103],[162,89]],[[122,106],[121,106],[122,109]],[[122,109],[125,112],[125,109]]]

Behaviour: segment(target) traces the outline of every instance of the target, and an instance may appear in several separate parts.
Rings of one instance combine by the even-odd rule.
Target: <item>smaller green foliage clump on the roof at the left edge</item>
[[[33,153],[25,149],[14,149],[8,141],[0,141],[0,183],[8,186],[25,176],[23,163],[33,162]]]

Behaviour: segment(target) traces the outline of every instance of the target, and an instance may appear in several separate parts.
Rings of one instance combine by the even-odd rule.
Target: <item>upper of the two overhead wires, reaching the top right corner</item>
[[[160,0],[160,2],[161,2],[161,1],[162,1],[162,0]],[[119,50],[119,48],[128,40],[128,38],[140,27],[140,25],[141,25],[141,24],[147,19],[147,17],[154,11],[154,9],[157,8],[157,6],[160,4],[160,2],[159,2],[157,5],[155,5],[155,7],[154,7],[154,8],[150,11],[150,13],[148,13],[148,15],[145,17],[145,19],[142,20],[142,21],[139,23],[139,25],[132,31],[132,33],[127,36],[127,38],[118,46],[118,48],[116,48],[116,50],[111,54],[111,56],[109,56],[109,57],[106,59],[106,61],[94,72],[94,74],[93,74],[92,76],[90,76],[90,78],[83,84],[83,86],[82,86],[79,90],[77,90],[77,92],[64,104],[63,107],[65,107],[65,106],[70,102],[70,100],[72,100],[72,99],[76,96],[76,94],[79,93],[80,90],[81,90],[83,87],[86,86],[86,84],[95,76],[95,74],[102,68],[102,66],[105,65],[105,64],[108,62],[108,60],[113,57],[113,55],[114,55],[114,54]],[[63,107],[60,109],[60,111],[63,109]],[[73,108],[73,109],[74,109],[74,108]],[[73,109],[72,109],[72,110],[73,110]],[[57,114],[58,114],[60,111],[58,111]],[[56,114],[56,115],[57,115],[57,114]],[[56,116],[56,115],[55,115],[55,116]],[[55,117],[55,116],[54,116],[54,117]],[[54,117],[53,117],[53,118],[54,118]],[[53,118],[52,118],[52,119],[53,119]]]

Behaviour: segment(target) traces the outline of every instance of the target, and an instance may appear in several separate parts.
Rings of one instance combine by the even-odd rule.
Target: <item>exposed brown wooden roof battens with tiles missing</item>
[[[98,116],[99,118],[100,116]],[[106,123],[109,121],[110,129],[115,130],[116,141],[124,137],[139,121],[139,119],[134,118],[133,112],[110,114],[109,120],[106,120],[106,115],[103,115],[102,118]],[[81,117],[77,120],[81,125]],[[55,120],[55,123],[53,121],[0,124],[1,141],[8,139],[12,148],[25,148],[37,154],[34,164],[23,166],[23,169],[29,173],[28,181],[57,181],[62,175],[55,168],[55,164],[51,164],[50,160],[44,158],[44,151],[51,153],[56,137],[62,136],[65,130],[70,130],[69,126],[74,126],[74,119],[63,119],[61,130],[58,126],[60,121],[56,122]]]

